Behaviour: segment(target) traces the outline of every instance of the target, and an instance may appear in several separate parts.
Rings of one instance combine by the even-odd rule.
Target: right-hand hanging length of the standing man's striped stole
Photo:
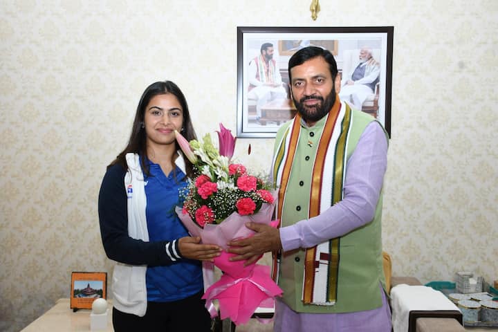
[[[330,116],[335,115],[335,116]],[[351,109],[334,104],[317,148],[311,183],[309,217],[317,216],[342,199],[346,139]],[[334,172],[327,172],[329,170]],[[304,304],[333,305],[337,298],[340,239],[306,249]]]

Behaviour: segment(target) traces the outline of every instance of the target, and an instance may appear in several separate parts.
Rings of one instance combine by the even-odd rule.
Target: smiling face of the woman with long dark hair
[[[171,145],[175,143],[174,130],[181,131],[183,109],[172,93],[156,95],[145,108],[144,115],[147,145]]]

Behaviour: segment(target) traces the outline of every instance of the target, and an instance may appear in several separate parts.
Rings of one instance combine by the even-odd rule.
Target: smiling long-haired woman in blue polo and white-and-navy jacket
[[[187,101],[155,82],[138,103],[127,147],[107,167],[99,194],[102,243],[113,271],[115,331],[210,331],[200,260],[218,246],[189,237],[174,212],[192,175],[174,130],[196,138]]]

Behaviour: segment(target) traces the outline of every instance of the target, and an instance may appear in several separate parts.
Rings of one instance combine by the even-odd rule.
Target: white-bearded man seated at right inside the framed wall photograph
[[[351,102],[356,109],[362,109],[362,104],[368,95],[375,91],[379,81],[380,65],[368,47],[360,50],[358,59],[360,63],[351,73],[343,73],[339,96],[342,100]]]

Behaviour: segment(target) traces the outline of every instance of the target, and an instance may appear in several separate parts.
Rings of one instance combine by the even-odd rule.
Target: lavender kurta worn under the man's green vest
[[[322,214],[280,228],[284,251],[310,248],[369,223],[387,167],[387,139],[378,122],[363,131],[349,158],[344,179],[344,197]],[[391,331],[391,313],[382,293],[382,306],[355,313],[296,313],[277,301],[275,331]],[[306,329],[304,327],[306,326]]]

